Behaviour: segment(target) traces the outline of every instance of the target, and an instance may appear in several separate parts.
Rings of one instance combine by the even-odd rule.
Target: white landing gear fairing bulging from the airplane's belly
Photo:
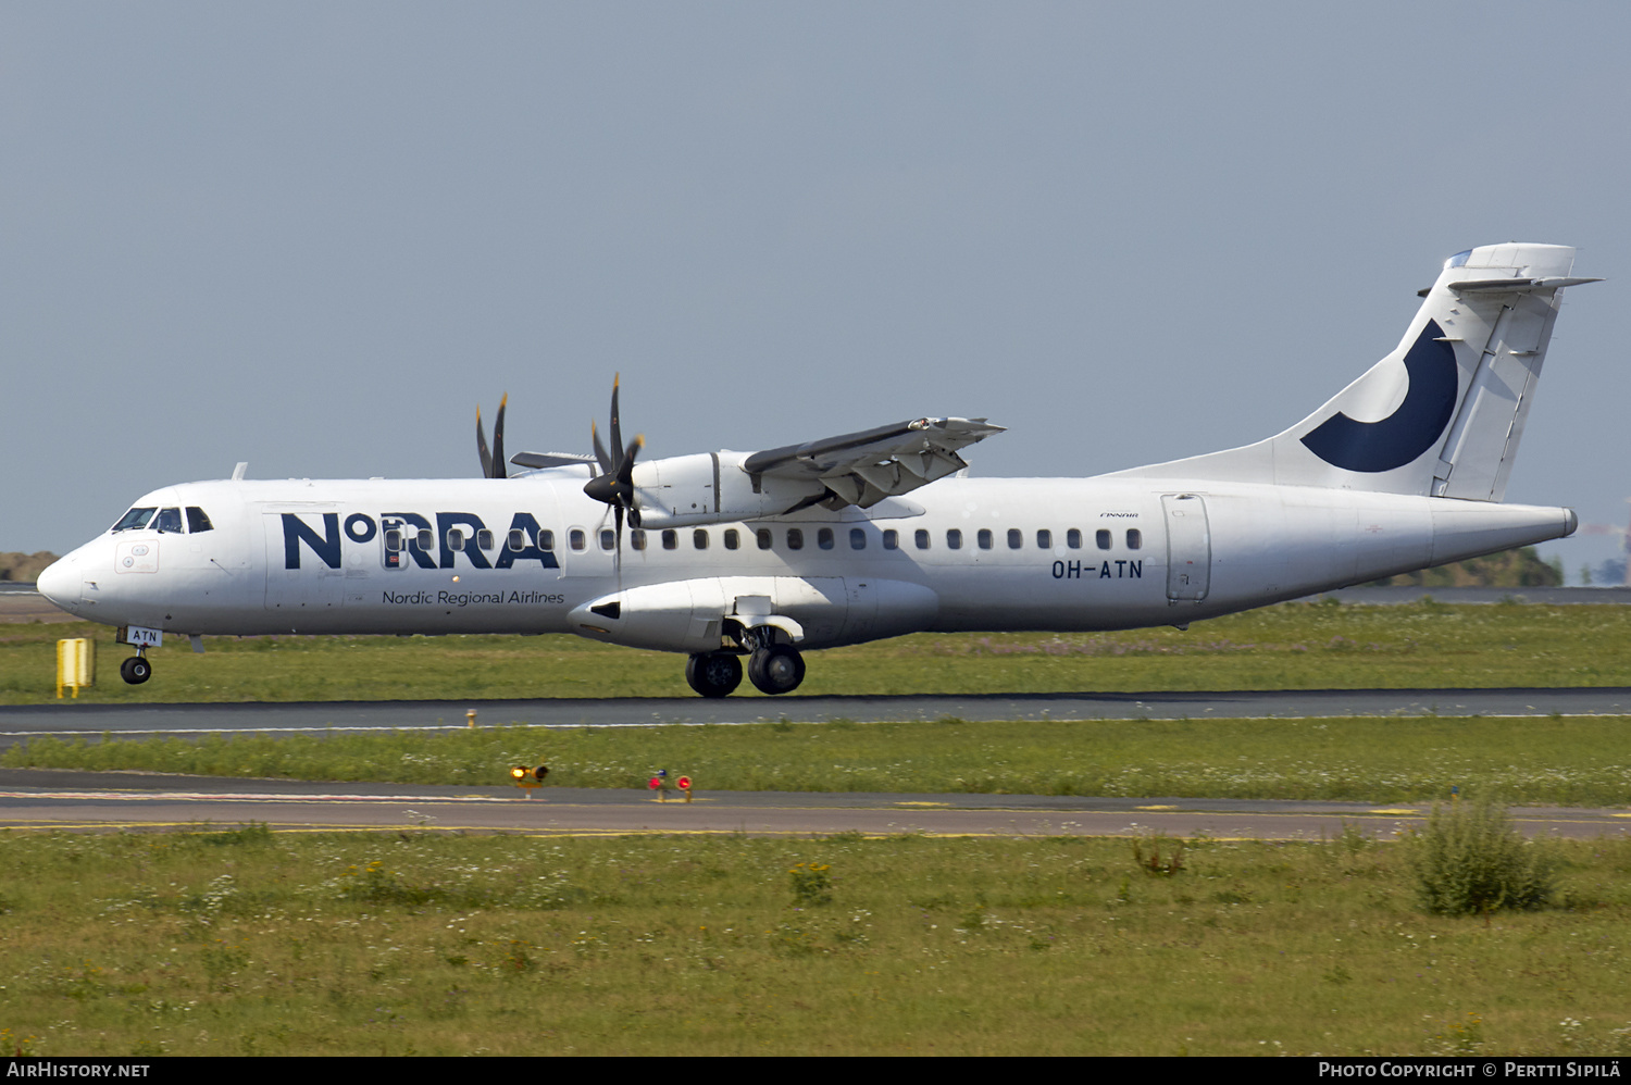
[[[643,584],[574,607],[572,631],[628,648],[709,653],[770,627],[801,648],[902,636],[933,625],[922,584],[858,576],[703,576]],[[799,636],[802,635],[802,638]]]

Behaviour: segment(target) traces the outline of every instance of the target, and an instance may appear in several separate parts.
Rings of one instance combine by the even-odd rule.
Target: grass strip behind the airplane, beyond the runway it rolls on
[[[571,636],[207,638],[202,656],[175,640],[132,687],[106,627],[8,625],[0,703],[54,700],[55,640],[83,635],[99,659],[88,702],[692,697],[683,656]],[[811,653],[799,693],[1631,685],[1628,644],[1631,607],[1284,604],[1189,631],[917,635]],[[737,695],[757,697],[745,682]]]

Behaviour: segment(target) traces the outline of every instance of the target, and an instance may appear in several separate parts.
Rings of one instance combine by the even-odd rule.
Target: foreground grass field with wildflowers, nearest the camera
[[[1145,840],[1140,847],[1173,842]],[[1631,842],[1530,914],[1401,848],[11,834],[0,1043],[153,1054],[1631,1054]],[[798,863],[825,866],[830,902]]]

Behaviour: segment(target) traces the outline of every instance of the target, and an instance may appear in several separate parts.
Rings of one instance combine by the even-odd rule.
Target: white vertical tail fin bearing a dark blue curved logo
[[[1484,245],[1445,261],[1391,354],[1267,441],[1119,475],[1501,501],[1528,418],[1564,245]]]

